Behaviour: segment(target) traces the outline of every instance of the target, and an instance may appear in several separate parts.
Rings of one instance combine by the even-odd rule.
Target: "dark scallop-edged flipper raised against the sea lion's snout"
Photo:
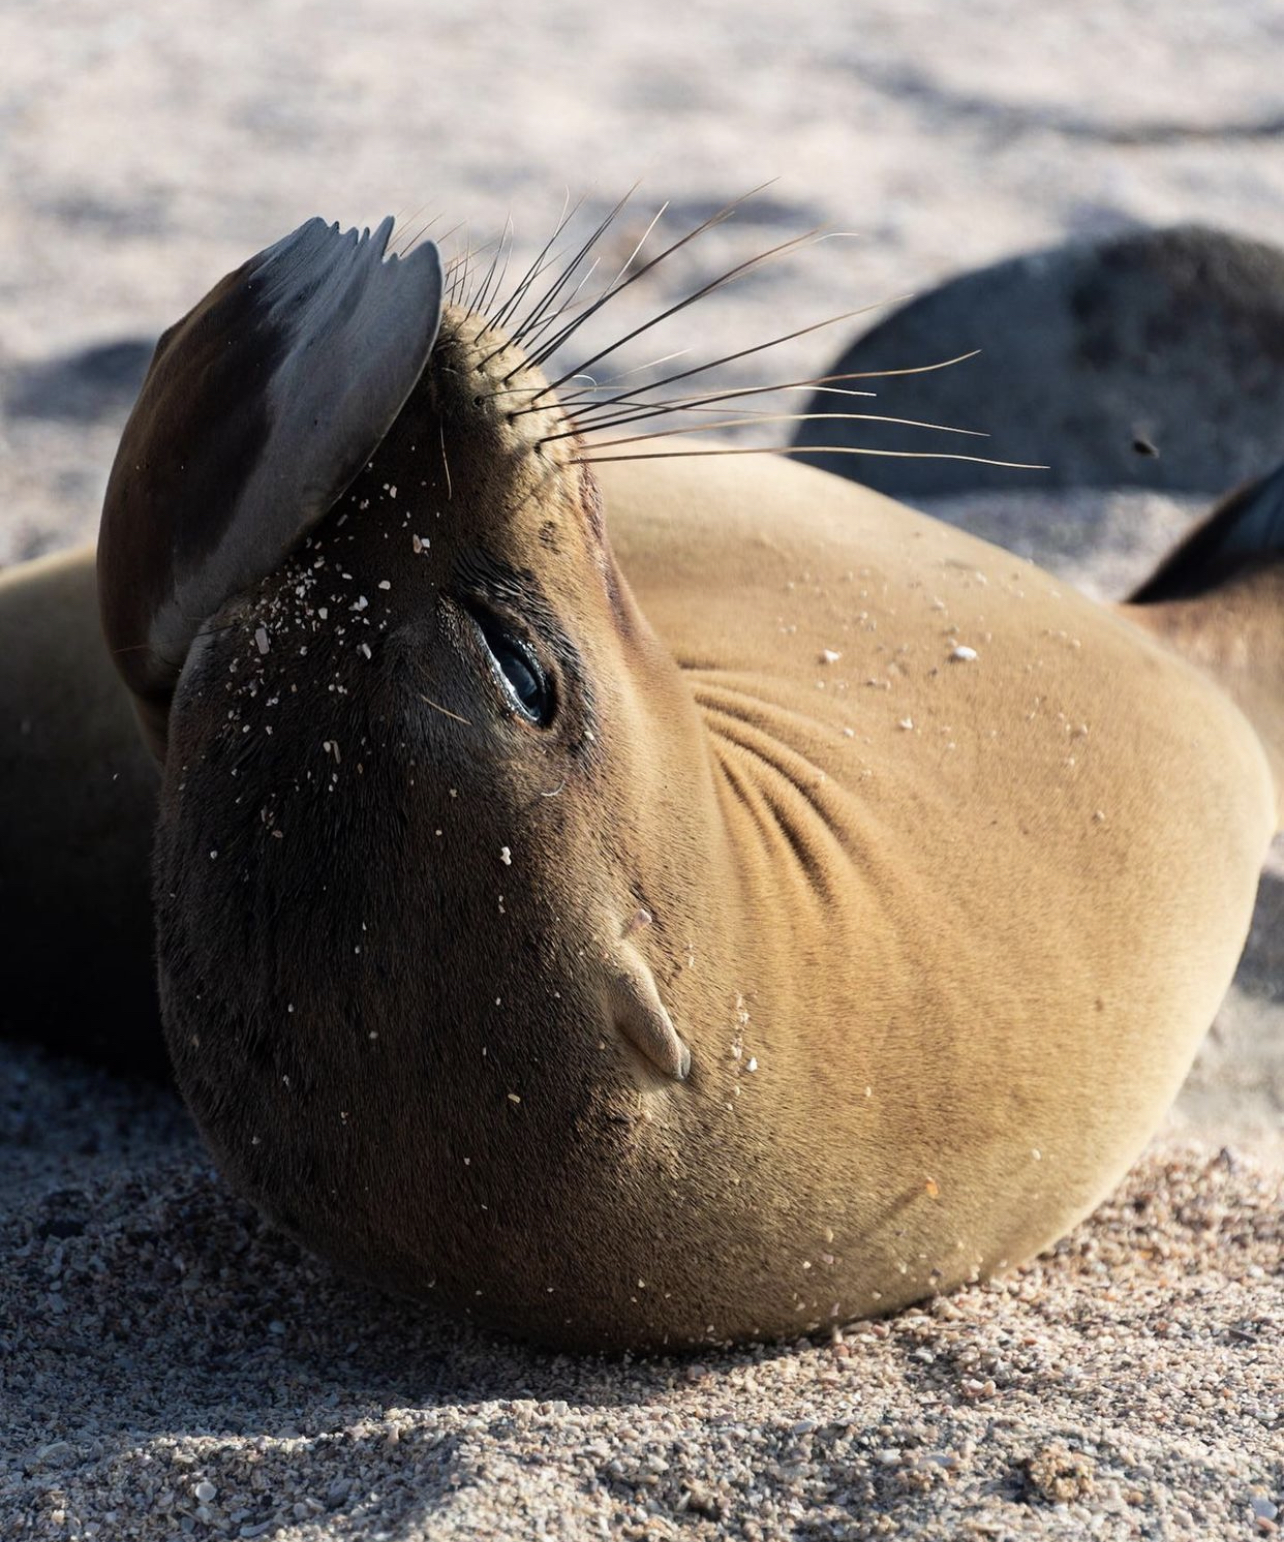
[[[342,497],[429,361],[441,254],[385,259],[392,228],[310,219],[156,345],[106,487],[99,601],[159,760],[196,634]]]

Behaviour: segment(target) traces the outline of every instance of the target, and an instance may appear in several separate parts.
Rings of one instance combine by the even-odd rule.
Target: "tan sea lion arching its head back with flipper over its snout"
[[[1275,598],[1250,722],[1145,631],[1182,629],[1162,583],[1110,611],[783,460],[603,464],[385,239],[307,225],[173,328],[103,512],[222,1169],[341,1268],[573,1348],[1030,1257],[1235,968]],[[1208,529],[1213,583],[1278,584],[1278,523]]]

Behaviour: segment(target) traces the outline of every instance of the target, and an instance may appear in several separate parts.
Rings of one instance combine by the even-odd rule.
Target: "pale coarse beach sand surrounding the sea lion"
[[[32,372],[153,338],[313,213],[466,221],[479,242],[512,213],[529,256],[567,188],[589,221],[641,177],[618,264],[664,199],[677,236],[777,177],[598,333],[835,231],[612,362],[712,358],[1068,236],[1202,219],[1284,242],[1281,34],[1267,0],[11,5],[0,560],[92,534],[120,429],[106,398],[29,410]],[[857,325],[717,378],[817,373]],[[999,444],[1019,402],[977,409]],[[1118,595],[1192,507],[936,512]],[[1272,1534],[1281,919],[1276,851],[1168,1124],[1051,1254],[839,1343],[700,1362],[532,1354],[351,1288],[231,1197],[171,1093],[0,1049],[0,1536]]]

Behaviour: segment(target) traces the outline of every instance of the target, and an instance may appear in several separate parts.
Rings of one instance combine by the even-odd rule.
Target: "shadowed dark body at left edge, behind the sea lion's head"
[[[0,574],[5,1032],[156,1072],[148,853],[160,777],[97,611],[92,550]]]

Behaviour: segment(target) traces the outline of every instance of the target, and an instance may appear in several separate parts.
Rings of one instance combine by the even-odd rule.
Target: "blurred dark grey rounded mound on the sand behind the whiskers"
[[[852,456],[852,424],[826,392],[794,443],[809,464],[911,503],[1022,486],[1219,493],[1284,456],[1281,341],[1279,247],[1202,225],[1071,241],[948,279],[826,370],[892,372],[880,410],[990,430],[1005,460],[1036,464]],[[897,424],[879,444],[920,447]]]

